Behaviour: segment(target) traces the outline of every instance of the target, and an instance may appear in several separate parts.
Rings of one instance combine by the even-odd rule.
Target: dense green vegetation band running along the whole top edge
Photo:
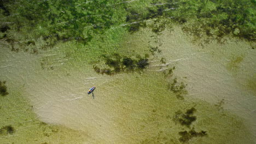
[[[139,5],[139,6],[138,6]],[[224,35],[255,41],[256,3],[250,0],[152,0],[124,1],[0,1],[1,39],[13,51],[15,44],[34,46],[38,39],[48,49],[58,41],[88,44],[95,35],[123,26],[134,33],[149,27],[160,34],[166,26],[181,25],[183,31],[206,43]],[[14,33],[21,34],[20,37]],[[25,51],[28,51],[24,48]]]

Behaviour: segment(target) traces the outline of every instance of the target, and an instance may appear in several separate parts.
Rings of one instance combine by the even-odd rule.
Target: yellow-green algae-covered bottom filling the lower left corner
[[[0,143],[83,143],[86,133],[40,122],[20,88],[1,97]]]

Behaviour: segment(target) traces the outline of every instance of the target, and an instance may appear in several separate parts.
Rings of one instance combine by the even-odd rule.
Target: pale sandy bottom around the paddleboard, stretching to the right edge
[[[170,67],[176,67],[174,76],[188,83],[187,102],[166,91],[165,77],[150,72],[156,70],[153,67],[141,75],[97,75],[89,64],[69,63],[69,59],[59,53],[61,47],[58,46],[39,55],[15,53],[3,46],[0,78],[9,82],[7,86],[24,86],[25,97],[40,121],[88,134],[84,143],[139,143],[143,139],[158,139],[154,135],[160,135],[162,141],[173,137],[169,142],[179,143],[178,131],[184,128],[166,117],[196,104],[201,116],[196,122],[199,126],[195,127],[208,130],[210,142],[200,139],[192,143],[214,143],[216,140],[229,143],[226,138],[234,140],[230,143],[241,143],[241,137],[247,134],[243,131],[246,128],[239,126],[236,117],[229,113],[224,115],[214,108],[222,99],[224,110],[241,117],[255,137],[256,97],[252,81],[255,80],[253,62],[256,57],[249,44],[231,41],[202,49],[190,43],[178,28],[171,33],[164,32],[158,39],[162,43],[158,57],[165,57]],[[241,58],[237,60],[237,57]],[[91,86],[96,86],[94,98],[86,93]],[[158,93],[159,89],[162,92]],[[232,124],[237,124],[237,128]],[[242,135],[237,136],[237,133]],[[255,142],[255,138],[249,139],[246,143]]]

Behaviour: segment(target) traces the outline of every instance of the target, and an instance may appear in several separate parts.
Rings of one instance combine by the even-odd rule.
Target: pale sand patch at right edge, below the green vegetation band
[[[256,136],[255,50],[237,39],[201,47],[176,29],[159,37],[160,49],[167,63],[176,66],[175,74],[186,77],[188,97],[212,104],[223,101],[224,109],[245,118]]]

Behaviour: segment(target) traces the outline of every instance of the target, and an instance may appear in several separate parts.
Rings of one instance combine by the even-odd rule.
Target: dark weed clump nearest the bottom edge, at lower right
[[[201,130],[200,132],[196,132],[194,130],[194,128],[192,128],[191,130],[187,131],[180,131],[179,135],[181,135],[182,137],[179,138],[179,141],[181,142],[188,142],[190,139],[192,139],[193,137],[202,137],[202,136],[206,136],[206,131]]]

